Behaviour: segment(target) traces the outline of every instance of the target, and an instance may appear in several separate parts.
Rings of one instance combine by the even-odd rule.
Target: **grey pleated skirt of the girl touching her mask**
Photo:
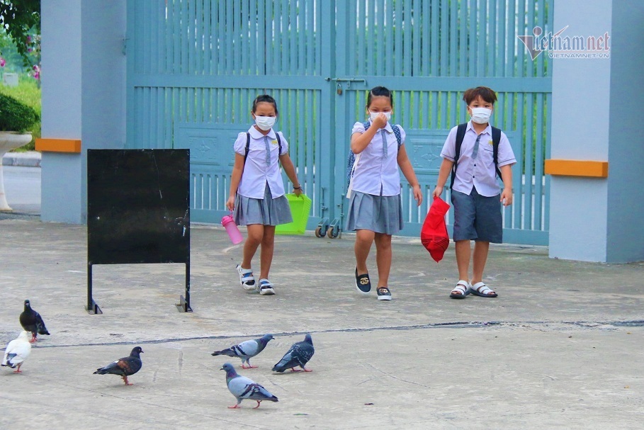
[[[396,234],[402,230],[402,203],[397,196],[373,196],[354,191],[349,199],[346,232],[371,230]]]

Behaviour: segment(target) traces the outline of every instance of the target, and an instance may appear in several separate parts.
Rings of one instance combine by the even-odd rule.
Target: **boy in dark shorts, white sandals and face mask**
[[[463,299],[472,293],[493,298],[497,293],[482,282],[483,270],[490,242],[502,242],[501,205],[512,205],[512,165],[516,159],[507,136],[489,123],[497,101],[495,92],[478,86],[465,91],[463,100],[472,119],[450,130],[441,151],[443,162],[433,195],[441,196],[451,173],[458,282],[449,297]],[[502,190],[497,175],[503,181]],[[472,239],[475,244],[470,278]]]

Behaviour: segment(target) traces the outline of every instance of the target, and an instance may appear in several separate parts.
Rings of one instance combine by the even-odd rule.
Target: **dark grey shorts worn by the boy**
[[[468,196],[452,190],[454,208],[454,234],[456,240],[481,240],[500,244],[503,242],[501,195],[481,196],[476,187]]]

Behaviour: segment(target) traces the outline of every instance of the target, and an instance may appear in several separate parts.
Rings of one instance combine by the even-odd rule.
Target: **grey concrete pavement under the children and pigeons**
[[[193,313],[174,307],[183,265],[155,264],[94,266],[104,313],[88,315],[86,227],[0,220],[0,341],[17,336],[26,298],[52,333],[22,375],[0,369],[0,428],[640,428],[644,264],[497,246],[485,281],[499,298],[451,300],[453,244],[440,264],[417,239],[393,246],[391,302],[356,292],[351,234],[310,232],[276,238],[277,295],[263,297],[239,287],[241,247],[193,225]],[[373,255],[369,267],[375,283]],[[238,370],[280,401],[227,409],[227,358],[210,352],[266,332],[276,340],[252,360],[259,368]],[[272,373],[306,332],[314,371]],[[135,385],[92,375],[135,345],[145,351]]]

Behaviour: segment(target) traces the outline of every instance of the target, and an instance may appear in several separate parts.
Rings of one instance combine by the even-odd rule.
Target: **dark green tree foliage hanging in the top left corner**
[[[16,44],[26,66],[30,58],[33,35],[40,34],[40,0],[0,0],[0,26]]]

